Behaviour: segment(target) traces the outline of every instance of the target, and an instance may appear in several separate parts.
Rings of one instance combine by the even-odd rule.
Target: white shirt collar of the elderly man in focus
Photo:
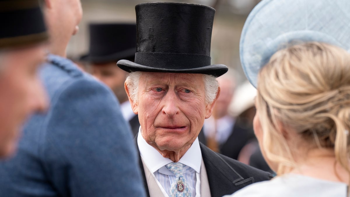
[[[137,144],[139,146],[139,151],[142,159],[149,167],[149,170],[154,173],[159,170],[161,167],[165,166],[168,163],[173,162],[172,160],[163,157],[155,148],[147,144],[145,139],[141,135],[141,127],[139,129],[139,134],[137,137]],[[191,147],[187,152],[180,158],[180,163],[188,165],[193,168],[197,173],[201,171],[202,164],[202,152],[199,145],[198,137],[192,143]]]

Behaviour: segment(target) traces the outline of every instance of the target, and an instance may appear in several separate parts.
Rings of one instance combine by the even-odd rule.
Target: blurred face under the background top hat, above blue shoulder
[[[120,69],[116,63],[94,64],[92,75],[110,87],[120,102],[127,101],[124,89],[127,72]]]

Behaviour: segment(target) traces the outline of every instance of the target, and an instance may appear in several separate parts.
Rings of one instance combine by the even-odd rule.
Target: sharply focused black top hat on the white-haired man
[[[220,76],[228,68],[211,65],[210,42],[215,9],[195,4],[153,2],[136,7],[135,63],[120,60],[127,71],[201,73]]]

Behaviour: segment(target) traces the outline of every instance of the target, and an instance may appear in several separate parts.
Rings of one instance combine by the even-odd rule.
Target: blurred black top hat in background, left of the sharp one
[[[136,51],[136,24],[90,24],[89,53],[82,61],[103,63],[133,60]]]

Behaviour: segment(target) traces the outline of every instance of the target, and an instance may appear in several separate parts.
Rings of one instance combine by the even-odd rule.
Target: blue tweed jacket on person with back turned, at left
[[[0,162],[0,196],[145,196],[113,93],[67,59],[48,62],[40,74],[50,108],[29,120],[17,154]]]

